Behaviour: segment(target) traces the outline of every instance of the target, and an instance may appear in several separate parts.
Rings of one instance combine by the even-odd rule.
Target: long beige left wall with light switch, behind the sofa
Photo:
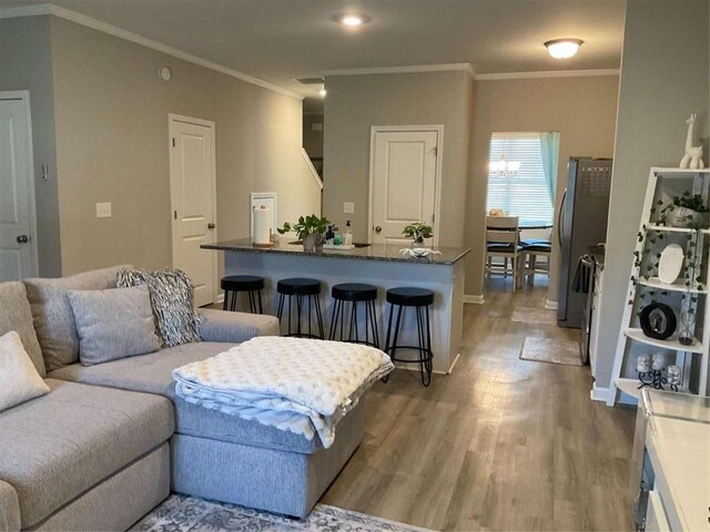
[[[216,123],[220,239],[248,236],[251,192],[278,193],[280,222],[320,212],[301,101],[54,17],[51,41],[64,275],[171,265],[169,113]]]

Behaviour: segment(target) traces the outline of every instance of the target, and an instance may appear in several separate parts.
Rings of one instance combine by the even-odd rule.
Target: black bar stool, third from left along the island
[[[365,285],[361,283],[344,283],[342,285],[335,285],[331,289],[331,295],[335,301],[333,303],[333,315],[331,317],[331,331],[328,335],[329,340],[335,340],[337,332],[338,318],[341,326],[341,341],[351,341],[353,344],[366,344],[368,346],[379,349],[379,330],[377,328],[377,316],[375,314],[375,301],[377,300],[377,287],[373,285]],[[349,331],[347,339],[343,340],[343,331],[345,326],[343,324],[345,318],[346,301],[351,301],[351,319]],[[359,301],[365,303],[365,339],[359,339],[359,327],[357,324],[357,304]],[[373,340],[369,341],[369,334],[372,332]]]

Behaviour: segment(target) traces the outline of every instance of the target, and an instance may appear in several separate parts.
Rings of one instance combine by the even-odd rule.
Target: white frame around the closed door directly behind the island
[[[442,223],[442,160],[444,153],[444,124],[434,125],[373,125],[369,127],[369,191],[367,198],[367,242],[373,242],[375,212],[375,137],[377,133],[407,131],[436,132],[436,174],[434,175],[434,246],[439,244],[439,224]]]

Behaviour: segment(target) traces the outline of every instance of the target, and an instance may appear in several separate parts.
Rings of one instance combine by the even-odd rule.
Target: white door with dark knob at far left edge
[[[37,275],[29,105],[0,92],[0,282]]]

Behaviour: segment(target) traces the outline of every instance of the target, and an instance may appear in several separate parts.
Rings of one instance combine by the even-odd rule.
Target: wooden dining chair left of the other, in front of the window
[[[508,275],[508,259],[513,275],[513,291],[519,284],[521,269],[520,231],[518,216],[486,217],[486,273],[495,272],[493,259],[504,259],[503,273]]]

